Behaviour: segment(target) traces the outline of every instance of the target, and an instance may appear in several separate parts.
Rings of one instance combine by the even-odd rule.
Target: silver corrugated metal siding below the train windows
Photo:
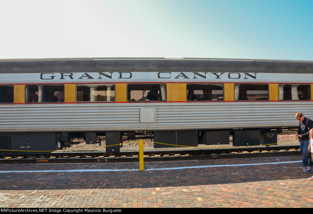
[[[140,123],[140,108],[156,108],[155,123]],[[196,130],[297,127],[312,102],[1,105],[0,132]]]

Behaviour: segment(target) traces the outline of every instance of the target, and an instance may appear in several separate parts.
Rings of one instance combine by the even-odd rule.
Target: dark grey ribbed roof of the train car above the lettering
[[[0,59],[0,73],[130,71],[313,73],[313,61],[162,57]]]

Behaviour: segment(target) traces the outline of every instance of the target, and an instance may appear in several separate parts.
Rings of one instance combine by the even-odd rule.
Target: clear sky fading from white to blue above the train
[[[0,58],[313,60],[313,0],[0,0]]]

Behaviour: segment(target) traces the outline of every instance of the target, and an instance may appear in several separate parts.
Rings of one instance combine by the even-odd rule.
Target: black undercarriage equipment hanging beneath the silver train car
[[[233,146],[277,145],[282,128],[187,130],[187,131],[107,131],[107,132],[29,132],[1,133],[0,154],[50,153],[73,144],[100,144],[105,140],[106,152],[119,152],[123,141],[148,139],[155,148],[197,147],[198,144]],[[230,137],[232,136],[232,137]],[[76,139],[76,140],[75,140]]]

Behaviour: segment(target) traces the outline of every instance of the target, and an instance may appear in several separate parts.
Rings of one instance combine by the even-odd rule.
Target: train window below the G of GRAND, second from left
[[[64,85],[26,85],[26,103],[63,103]]]

